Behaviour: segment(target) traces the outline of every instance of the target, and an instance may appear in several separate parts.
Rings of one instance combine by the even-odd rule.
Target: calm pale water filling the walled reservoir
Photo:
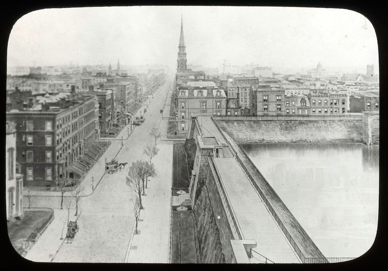
[[[240,144],[326,257],[359,257],[378,220],[379,146]]]

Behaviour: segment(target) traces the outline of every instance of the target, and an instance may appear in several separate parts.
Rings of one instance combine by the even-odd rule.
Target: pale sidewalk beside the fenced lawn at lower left
[[[69,220],[75,221],[80,215],[74,216],[75,209],[70,209]],[[66,237],[67,209],[54,209],[54,220],[26,254],[25,258],[35,262],[50,262],[62,246]],[[63,230],[63,231],[62,231]],[[63,240],[61,240],[61,236]]]

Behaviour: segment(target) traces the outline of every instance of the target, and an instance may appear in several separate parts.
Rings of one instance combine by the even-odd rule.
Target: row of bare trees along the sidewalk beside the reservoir
[[[155,139],[156,143],[156,139]],[[128,169],[127,185],[129,185],[136,193],[136,198],[133,202],[133,213],[135,215],[135,233],[137,233],[137,223],[139,220],[140,210],[144,209],[142,205],[142,196],[147,196],[145,188],[147,188],[149,178],[156,177],[157,170],[152,162],[152,158],[159,152],[156,145],[147,145],[143,153],[149,157],[148,161],[136,160]]]

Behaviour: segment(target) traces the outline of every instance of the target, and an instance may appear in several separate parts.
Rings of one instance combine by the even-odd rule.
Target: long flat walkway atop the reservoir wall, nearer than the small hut
[[[256,240],[257,246],[253,250],[275,263],[300,263],[299,257],[237,160],[213,159],[244,239]]]

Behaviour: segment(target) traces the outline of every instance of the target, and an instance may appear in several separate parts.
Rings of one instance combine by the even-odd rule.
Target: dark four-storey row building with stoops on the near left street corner
[[[99,137],[98,110],[94,95],[71,95],[40,110],[7,112],[17,127],[16,161],[25,186],[51,186],[83,174],[77,161]]]

